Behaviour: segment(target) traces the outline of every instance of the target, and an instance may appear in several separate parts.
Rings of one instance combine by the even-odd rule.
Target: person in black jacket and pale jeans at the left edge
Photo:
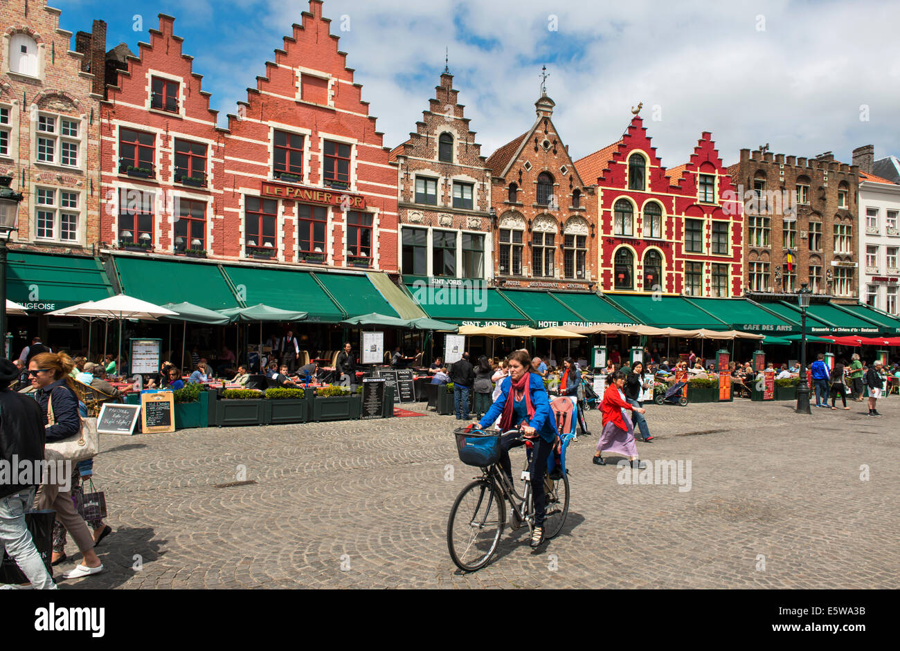
[[[25,394],[10,390],[19,378],[19,370],[9,360],[0,360],[0,459],[10,466],[37,468],[44,459],[44,427],[40,407]],[[0,557],[3,551],[15,561],[31,582],[32,588],[55,590],[31,533],[25,524],[25,512],[31,511],[38,487],[38,473],[31,473],[28,484],[0,483]]]

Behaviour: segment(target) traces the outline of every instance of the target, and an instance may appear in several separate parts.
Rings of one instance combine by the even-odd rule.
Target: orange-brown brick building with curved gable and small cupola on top
[[[487,161],[500,287],[595,288],[597,201],[554,125],[554,106],[543,93],[531,128]]]

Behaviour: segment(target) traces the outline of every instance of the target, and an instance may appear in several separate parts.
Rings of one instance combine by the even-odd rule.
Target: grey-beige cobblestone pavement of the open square
[[[452,417],[103,436],[106,572],[60,585],[896,588],[900,399],[878,402],[885,418],[865,403],[811,416],[786,402],[648,406],[657,439],[638,450],[689,460],[686,492],[593,465],[592,411],[594,435],[569,451],[563,532],[535,552],[527,529],[508,528],[473,574],[446,548],[450,507],[476,474],[456,457]],[[215,486],[244,467],[255,484]]]

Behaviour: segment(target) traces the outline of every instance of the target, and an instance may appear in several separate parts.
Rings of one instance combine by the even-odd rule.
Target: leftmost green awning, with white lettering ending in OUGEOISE
[[[22,251],[6,254],[6,298],[21,303],[29,312],[53,312],[114,294],[103,264],[94,257]]]

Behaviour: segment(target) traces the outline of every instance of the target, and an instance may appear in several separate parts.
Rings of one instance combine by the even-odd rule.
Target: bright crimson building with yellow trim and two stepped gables
[[[575,165],[596,183],[603,290],[743,293],[741,204],[708,132],[667,171],[635,115],[622,138]]]

